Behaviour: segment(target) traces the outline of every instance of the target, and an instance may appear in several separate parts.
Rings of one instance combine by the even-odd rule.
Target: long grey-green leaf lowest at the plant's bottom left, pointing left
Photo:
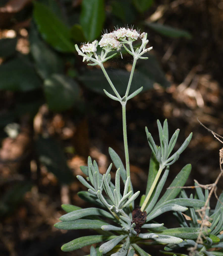
[[[61,250],[64,252],[69,252],[69,251],[77,250],[81,247],[84,247],[90,244],[108,241],[116,237],[117,236],[103,236],[103,235],[79,237],[77,239],[72,240],[71,242],[65,243],[61,247]]]

